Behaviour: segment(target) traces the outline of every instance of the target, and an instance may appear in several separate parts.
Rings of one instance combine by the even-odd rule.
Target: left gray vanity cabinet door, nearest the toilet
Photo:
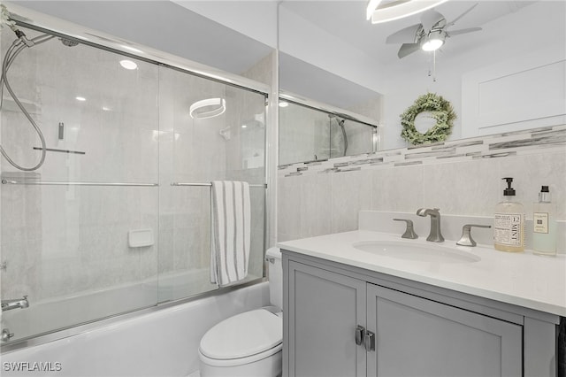
[[[289,261],[289,377],[366,375],[366,352],[356,345],[365,298],[365,281]]]

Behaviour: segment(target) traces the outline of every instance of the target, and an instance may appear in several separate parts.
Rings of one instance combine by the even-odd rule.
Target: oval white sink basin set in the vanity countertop
[[[411,244],[409,241],[363,241],[352,246],[357,250],[391,258],[430,263],[471,263],[481,260],[468,252],[440,245]]]

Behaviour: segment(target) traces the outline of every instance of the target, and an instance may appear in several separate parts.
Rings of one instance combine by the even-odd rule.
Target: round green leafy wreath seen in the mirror
[[[424,134],[417,131],[415,118],[421,112],[431,112],[432,118],[436,120],[436,125],[429,128]],[[401,136],[412,145],[419,145],[431,142],[444,142],[448,135],[452,133],[452,126],[456,114],[447,100],[434,93],[427,93],[419,96],[401,115],[401,125],[403,127]]]

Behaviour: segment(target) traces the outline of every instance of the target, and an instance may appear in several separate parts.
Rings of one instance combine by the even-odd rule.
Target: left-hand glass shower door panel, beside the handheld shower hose
[[[157,65],[52,38],[8,77],[49,150],[34,172],[0,165],[1,296],[29,303],[2,328],[18,340],[157,304]],[[1,115],[4,149],[34,165],[41,143],[6,90]]]

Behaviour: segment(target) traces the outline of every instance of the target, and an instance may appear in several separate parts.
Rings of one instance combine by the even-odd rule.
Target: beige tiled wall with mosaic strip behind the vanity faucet
[[[565,220],[566,126],[285,166],[278,241],[355,230],[361,210],[493,216],[508,176],[527,218],[548,185]]]

